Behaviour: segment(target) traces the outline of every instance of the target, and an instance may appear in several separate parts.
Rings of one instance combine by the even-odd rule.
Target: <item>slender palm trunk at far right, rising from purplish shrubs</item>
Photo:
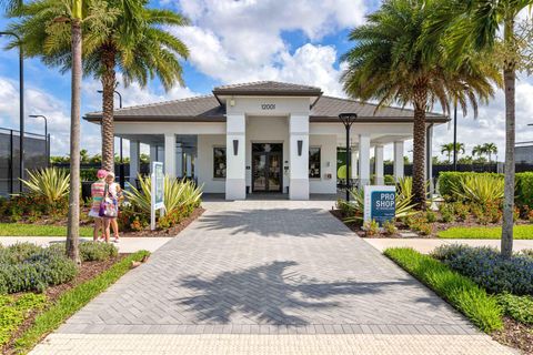
[[[512,48],[514,41],[514,19],[504,23],[505,47]],[[505,89],[505,181],[502,225],[502,255],[513,254],[513,213],[514,213],[514,142],[515,142],[515,63],[504,63],[503,83]]]

